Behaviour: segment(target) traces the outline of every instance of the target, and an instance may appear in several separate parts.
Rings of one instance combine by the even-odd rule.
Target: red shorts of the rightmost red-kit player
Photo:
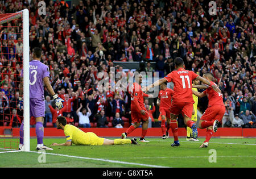
[[[204,111],[200,120],[218,120],[221,121],[226,111],[226,107],[223,105],[213,105]]]

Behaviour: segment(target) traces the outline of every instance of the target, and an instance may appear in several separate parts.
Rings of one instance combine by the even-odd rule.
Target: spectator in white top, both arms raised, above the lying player
[[[85,108],[82,108],[82,104],[80,105],[79,109],[77,109],[76,114],[79,117],[79,127],[85,127],[85,128],[90,128],[90,119],[89,116],[92,114],[92,112],[89,109],[89,103],[87,103],[87,110]],[[80,110],[82,109],[82,113]]]

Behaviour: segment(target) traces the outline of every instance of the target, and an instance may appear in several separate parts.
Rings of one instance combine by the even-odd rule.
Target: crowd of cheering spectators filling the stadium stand
[[[98,72],[110,74],[114,61],[155,61],[155,68],[146,63],[144,71],[159,72],[161,78],[174,70],[177,56],[200,76],[214,74],[226,106],[222,127],[256,127],[255,1],[216,1],[217,15],[209,14],[209,1],[203,0],[45,1],[46,15],[38,14],[38,2],[4,1],[0,12],[30,10],[30,51],[42,48],[53,89],[65,101],[57,109],[46,91],[45,127],[47,122],[54,126],[58,115],[80,127],[123,127],[123,120],[130,119],[129,93],[98,91]],[[1,36],[0,113],[12,126],[22,120],[22,112],[15,110],[22,68],[15,28]],[[8,46],[3,39],[15,45],[7,48],[8,56],[3,55]],[[116,72],[122,70],[115,66]],[[199,99],[201,113],[207,104],[207,97]],[[158,118],[156,112],[153,118]]]

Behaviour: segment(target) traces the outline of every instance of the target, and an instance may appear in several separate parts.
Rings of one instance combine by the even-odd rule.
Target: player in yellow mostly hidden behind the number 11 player
[[[197,88],[193,88],[193,85],[199,85],[200,81],[199,80],[193,80],[193,84],[192,84],[192,90],[197,91]],[[193,122],[197,122],[197,104],[198,104],[198,97],[193,94],[193,100],[195,103],[193,103],[193,112],[192,112],[192,116],[191,116],[191,120],[193,120]],[[187,141],[199,141],[198,139],[194,139],[191,137],[192,136],[192,130],[190,127],[187,126]]]

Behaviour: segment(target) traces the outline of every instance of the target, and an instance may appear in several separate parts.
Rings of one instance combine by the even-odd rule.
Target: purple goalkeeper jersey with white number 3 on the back
[[[23,77],[23,70],[20,74]],[[49,68],[38,60],[30,61],[30,99],[44,98],[44,77],[49,77]]]

